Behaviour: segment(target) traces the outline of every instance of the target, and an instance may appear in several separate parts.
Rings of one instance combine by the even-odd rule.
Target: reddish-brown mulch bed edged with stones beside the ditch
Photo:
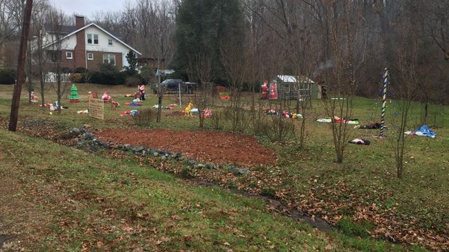
[[[206,131],[166,129],[101,129],[102,141],[181,152],[202,162],[240,166],[272,165],[276,155],[253,136]]]

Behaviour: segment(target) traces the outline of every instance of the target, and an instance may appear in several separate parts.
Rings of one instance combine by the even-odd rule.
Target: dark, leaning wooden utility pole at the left
[[[22,26],[22,33],[20,37],[19,59],[17,60],[17,82],[14,87],[14,93],[12,94],[10,124],[8,127],[8,130],[10,132],[15,132],[17,129],[17,118],[19,117],[20,93],[22,84],[24,83],[26,49],[28,48],[28,33],[30,31],[30,19],[32,9],[33,9],[33,0],[27,0],[25,7],[24,24]],[[31,76],[28,76],[28,78],[31,78]]]

